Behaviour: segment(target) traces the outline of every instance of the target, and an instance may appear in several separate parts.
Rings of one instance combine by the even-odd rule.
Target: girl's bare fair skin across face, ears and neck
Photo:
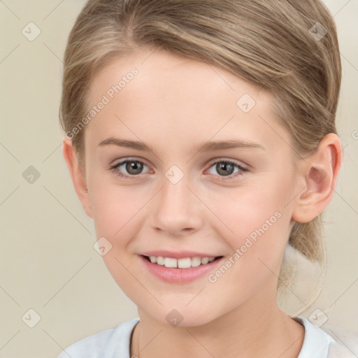
[[[342,160],[339,138],[328,134],[314,155],[296,159],[270,93],[218,67],[152,51],[138,49],[94,76],[93,104],[132,67],[138,69],[85,127],[82,171],[71,140],[63,141],[96,236],[113,245],[104,262],[138,307],[131,355],[298,357],[304,329],[277,306],[278,275],[294,222],[313,220],[331,201]],[[236,105],[245,93],[256,101],[248,113]],[[152,151],[99,146],[110,137],[142,141]],[[263,148],[194,150],[209,140],[231,139]],[[145,164],[134,179],[110,170],[128,158]],[[215,165],[218,159],[248,171],[236,175],[234,167],[229,179]],[[165,176],[173,165],[184,174],[176,184]],[[133,173],[125,164],[118,171]],[[166,249],[229,258],[275,212],[281,214],[275,224],[215,283],[208,275],[183,285],[163,282],[138,257]],[[177,327],[166,320],[173,309],[183,318]]]

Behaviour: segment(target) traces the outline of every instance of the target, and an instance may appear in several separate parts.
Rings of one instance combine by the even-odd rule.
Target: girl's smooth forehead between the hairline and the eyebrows
[[[87,128],[97,142],[125,132],[137,140],[136,134],[150,134],[151,141],[161,134],[192,141],[237,134],[277,143],[273,127],[280,126],[269,92],[220,67],[164,50],[136,50],[104,66],[90,83],[91,105],[103,96],[108,103]]]

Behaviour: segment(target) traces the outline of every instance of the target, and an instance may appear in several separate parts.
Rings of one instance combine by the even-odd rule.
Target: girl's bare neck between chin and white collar
[[[171,327],[138,309],[140,322],[131,338],[131,357],[297,358],[304,327],[262,293],[235,310],[195,327]],[[259,307],[259,309],[257,309]]]

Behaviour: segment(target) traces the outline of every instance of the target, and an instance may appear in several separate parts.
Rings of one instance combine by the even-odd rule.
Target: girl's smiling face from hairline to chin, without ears
[[[123,292],[158,322],[175,309],[186,326],[274,301],[299,188],[271,94],[164,50],[115,59],[90,89],[92,105],[106,103],[85,127],[89,211]],[[222,258],[189,280],[142,256],[157,250]]]

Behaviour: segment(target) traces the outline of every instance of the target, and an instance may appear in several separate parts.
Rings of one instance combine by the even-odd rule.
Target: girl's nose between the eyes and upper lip
[[[161,181],[162,189],[157,198],[153,225],[172,233],[198,229],[201,224],[198,199],[188,188],[190,176],[178,166],[172,166]]]

